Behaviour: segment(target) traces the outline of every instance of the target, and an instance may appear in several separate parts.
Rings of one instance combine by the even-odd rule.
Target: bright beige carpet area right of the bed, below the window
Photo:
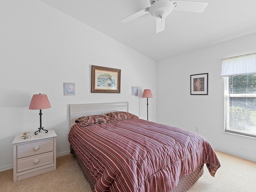
[[[221,167],[204,174],[187,192],[256,192],[256,163],[216,151]]]

